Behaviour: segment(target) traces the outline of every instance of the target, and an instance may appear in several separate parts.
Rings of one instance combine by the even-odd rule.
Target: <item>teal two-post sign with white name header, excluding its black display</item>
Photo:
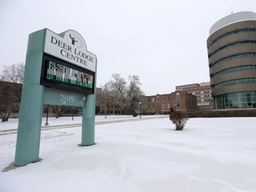
[[[90,71],[94,75],[93,91],[81,92],[80,88],[76,92],[76,86],[70,91],[65,90],[65,86],[59,89],[51,84],[49,87],[42,85],[44,54]],[[29,35],[14,165],[22,166],[39,161],[44,105],[83,107],[82,140],[79,146],[95,143],[96,74],[97,57],[87,51],[83,36],[75,30],[58,35],[44,28]]]

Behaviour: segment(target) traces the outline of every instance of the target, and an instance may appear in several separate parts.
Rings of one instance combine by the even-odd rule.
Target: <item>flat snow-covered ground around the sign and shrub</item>
[[[107,119],[111,118],[132,117]],[[104,119],[96,116],[96,122]],[[51,118],[49,123],[77,124],[81,118]],[[15,119],[0,123],[0,131],[17,124]],[[181,132],[174,131],[168,116],[99,124],[96,145],[84,148],[77,146],[81,127],[45,130],[40,146],[43,160],[0,172],[0,191],[253,192],[255,124],[255,117],[191,118]],[[16,137],[0,136],[1,170],[14,160]]]

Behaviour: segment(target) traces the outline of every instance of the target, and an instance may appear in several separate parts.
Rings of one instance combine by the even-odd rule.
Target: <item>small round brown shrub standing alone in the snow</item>
[[[172,121],[172,124],[175,124],[175,130],[181,131],[185,127],[185,124],[188,122],[188,116],[186,112],[182,111],[175,111],[173,108],[171,108],[170,113],[170,120]]]

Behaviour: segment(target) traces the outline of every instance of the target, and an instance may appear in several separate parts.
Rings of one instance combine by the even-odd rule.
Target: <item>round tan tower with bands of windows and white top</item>
[[[217,21],[207,49],[214,108],[256,108],[256,13]]]

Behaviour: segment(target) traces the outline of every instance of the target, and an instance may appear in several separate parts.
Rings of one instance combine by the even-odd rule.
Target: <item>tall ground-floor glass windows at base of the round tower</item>
[[[215,108],[256,108],[256,92],[233,92],[215,97]]]

